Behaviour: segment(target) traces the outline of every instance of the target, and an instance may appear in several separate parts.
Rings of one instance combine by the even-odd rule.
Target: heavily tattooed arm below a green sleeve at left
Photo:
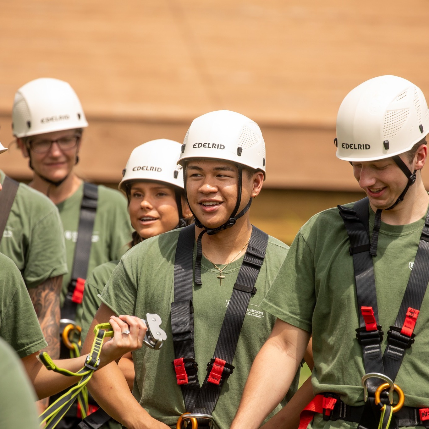
[[[52,359],[60,357],[60,293],[63,276],[48,278],[39,286],[29,289],[34,310],[48,347],[44,351]]]

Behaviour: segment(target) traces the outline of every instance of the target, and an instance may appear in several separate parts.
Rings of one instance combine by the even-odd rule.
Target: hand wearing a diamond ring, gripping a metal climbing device
[[[121,358],[125,353],[142,347],[147,327],[145,322],[135,316],[112,316],[109,320],[113,337],[103,344],[99,368]],[[130,333],[123,333],[123,332]]]

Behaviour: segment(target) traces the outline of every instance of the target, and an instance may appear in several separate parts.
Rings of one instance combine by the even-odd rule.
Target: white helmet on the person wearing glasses
[[[16,91],[12,110],[15,137],[88,127],[73,88],[58,79],[40,78]]]

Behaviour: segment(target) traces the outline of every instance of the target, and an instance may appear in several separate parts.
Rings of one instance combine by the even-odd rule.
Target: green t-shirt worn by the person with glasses
[[[83,183],[72,196],[57,204],[61,221],[63,222],[67,268],[69,270],[68,275],[63,277],[61,305],[63,305],[67,294],[67,286],[72,275],[82,198]],[[128,250],[127,244],[130,241],[131,224],[127,211],[127,200],[118,190],[99,185],[88,274],[100,264],[121,258]],[[79,305],[76,315],[78,323],[81,315],[82,305]]]

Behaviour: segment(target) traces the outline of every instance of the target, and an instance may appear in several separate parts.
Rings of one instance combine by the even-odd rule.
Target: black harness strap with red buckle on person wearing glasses
[[[77,305],[82,302],[85,278],[88,274],[92,232],[97,213],[98,186],[85,182],[80,209],[78,238],[73,257],[72,276],[68,285],[66,299],[61,309],[61,318],[75,320]]]

